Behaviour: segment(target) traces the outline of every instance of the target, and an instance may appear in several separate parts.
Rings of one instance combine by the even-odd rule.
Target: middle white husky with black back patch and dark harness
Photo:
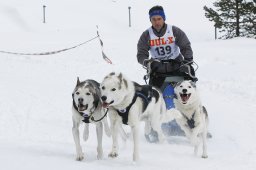
[[[109,108],[110,129],[113,145],[109,157],[118,156],[117,127],[129,125],[132,129],[134,150],[133,161],[139,159],[139,122],[145,121],[145,134],[151,128],[158,133],[159,142],[164,135],[161,124],[170,121],[162,94],[152,86],[141,86],[125,78],[122,73],[110,73],[100,85],[103,107]]]

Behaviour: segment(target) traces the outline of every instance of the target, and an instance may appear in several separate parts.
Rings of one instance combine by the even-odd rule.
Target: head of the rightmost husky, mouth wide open
[[[174,93],[177,100],[182,104],[190,104],[194,102],[196,92],[196,84],[190,80],[184,80],[176,84]]]

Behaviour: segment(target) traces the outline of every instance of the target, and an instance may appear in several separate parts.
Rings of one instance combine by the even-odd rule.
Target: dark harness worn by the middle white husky
[[[138,84],[136,84],[138,85]],[[138,87],[138,86],[137,86]],[[154,96],[154,93],[157,92],[156,90],[152,89],[152,86],[149,85],[143,85],[139,86],[140,89],[137,89],[135,91],[134,97],[132,99],[132,102],[122,110],[116,110],[118,115],[122,117],[122,122],[125,125],[128,125],[128,114],[132,107],[132,105],[136,102],[137,97],[140,97],[143,99],[143,112],[146,110],[149,102],[151,101],[152,97]]]

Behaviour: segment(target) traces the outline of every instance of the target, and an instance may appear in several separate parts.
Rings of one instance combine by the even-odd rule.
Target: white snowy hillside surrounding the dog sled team
[[[97,39],[55,55],[0,53],[0,169],[255,169],[256,41],[215,41],[212,23],[202,10],[211,2],[0,0],[0,51],[37,53],[72,47],[95,37],[98,25],[105,53],[113,62],[102,59]],[[147,143],[141,128],[139,163],[132,162],[131,140],[120,141],[118,158],[108,158],[112,140],[105,134],[104,159],[99,161],[92,125],[88,142],[82,142],[85,160],[75,161],[71,93],[77,76],[101,82],[109,72],[121,71],[143,84],[145,70],[137,63],[137,41],[150,26],[148,9],[157,4],[164,7],[167,23],[183,29],[192,42],[199,65],[197,84],[213,134],[208,140],[209,158],[194,157],[184,137]]]

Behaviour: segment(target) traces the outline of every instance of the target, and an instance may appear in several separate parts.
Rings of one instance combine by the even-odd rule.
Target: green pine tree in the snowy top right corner
[[[220,38],[256,38],[256,0],[218,0],[217,10],[204,6],[205,16],[222,32]]]

